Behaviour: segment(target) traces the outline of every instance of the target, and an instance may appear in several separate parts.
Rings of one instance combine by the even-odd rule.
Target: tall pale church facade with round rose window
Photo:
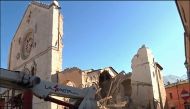
[[[62,70],[62,19],[57,1],[50,5],[31,2],[11,42],[8,68],[51,81],[51,75]],[[30,92],[9,90],[8,93],[10,91],[12,96],[22,94],[27,109],[57,107],[57,104],[40,100]]]

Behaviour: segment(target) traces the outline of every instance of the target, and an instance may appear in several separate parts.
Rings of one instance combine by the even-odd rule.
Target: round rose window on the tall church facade
[[[23,39],[23,43],[21,45],[21,58],[23,60],[27,59],[30,55],[30,52],[32,50],[34,38],[33,38],[33,32],[28,32]]]

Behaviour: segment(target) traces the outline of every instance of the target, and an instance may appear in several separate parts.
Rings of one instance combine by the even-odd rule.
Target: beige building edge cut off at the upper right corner
[[[185,67],[190,80],[190,1],[176,0],[177,9],[184,28]]]

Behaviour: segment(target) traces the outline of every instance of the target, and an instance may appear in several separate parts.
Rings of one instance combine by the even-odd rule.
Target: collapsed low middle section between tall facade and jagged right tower
[[[127,108],[131,96],[130,74],[117,73],[112,67],[98,70],[67,68],[53,75],[54,81],[78,88],[95,86],[99,108]],[[63,98],[65,101],[72,101]],[[63,106],[59,106],[60,108]]]

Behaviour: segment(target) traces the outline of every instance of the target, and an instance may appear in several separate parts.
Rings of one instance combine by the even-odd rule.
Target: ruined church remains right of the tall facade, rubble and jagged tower
[[[103,109],[164,109],[163,68],[151,50],[145,45],[139,48],[131,67],[131,73],[117,73],[112,67],[84,71],[74,67],[55,77],[58,83],[74,87],[95,85],[98,105]]]

